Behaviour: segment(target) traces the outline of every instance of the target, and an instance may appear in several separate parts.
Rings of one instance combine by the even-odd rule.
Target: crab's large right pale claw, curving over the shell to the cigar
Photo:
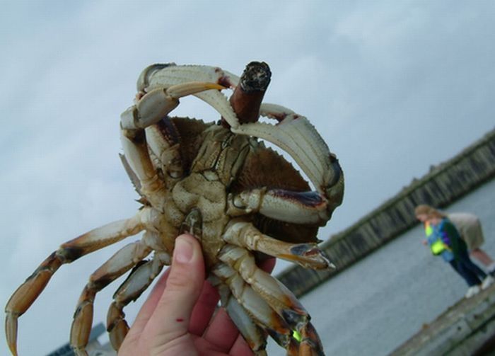
[[[342,204],[344,196],[344,174],[337,157],[330,153],[327,144],[306,117],[274,104],[262,104],[260,115],[279,122],[276,125],[251,122],[232,127],[232,132],[260,137],[286,151],[325,197],[331,213]]]

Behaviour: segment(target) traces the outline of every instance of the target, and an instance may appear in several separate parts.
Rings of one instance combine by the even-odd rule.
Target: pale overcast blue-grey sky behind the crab
[[[493,1],[4,3],[3,304],[60,243],[139,207],[118,158],[118,123],[148,64],[240,74],[267,62],[265,101],[307,116],[344,169],[344,205],[320,230],[324,240],[494,128]],[[176,113],[218,119],[195,98]],[[66,342],[88,275],[115,251],[57,272],[20,318],[21,355]],[[98,294],[95,323],[117,285]]]

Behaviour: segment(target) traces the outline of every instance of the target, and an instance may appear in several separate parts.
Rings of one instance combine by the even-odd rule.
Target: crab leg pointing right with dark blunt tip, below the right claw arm
[[[290,260],[304,268],[334,268],[316,243],[287,243],[262,234],[249,222],[234,222],[223,234],[223,240],[233,245],[260,251],[284,260]]]

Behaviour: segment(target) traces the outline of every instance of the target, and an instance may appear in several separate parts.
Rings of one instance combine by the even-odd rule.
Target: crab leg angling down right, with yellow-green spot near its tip
[[[314,351],[316,355],[323,354],[320,338],[310,323],[308,312],[287,287],[257,267],[251,253],[245,248],[227,245],[220,251],[219,258],[237,271],[243,280],[284,318],[291,330],[301,333],[301,345],[309,346],[308,350]]]

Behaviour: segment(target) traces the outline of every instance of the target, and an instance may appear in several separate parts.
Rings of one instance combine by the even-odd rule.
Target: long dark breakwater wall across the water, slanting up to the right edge
[[[337,269],[317,272],[294,266],[277,277],[299,297],[415,226],[417,205],[445,207],[494,177],[495,129],[323,243]]]

